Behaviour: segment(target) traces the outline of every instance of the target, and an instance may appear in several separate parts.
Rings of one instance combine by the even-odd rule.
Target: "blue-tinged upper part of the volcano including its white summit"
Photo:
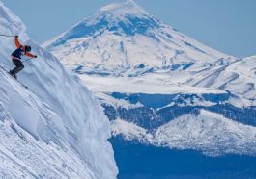
[[[96,38],[100,36],[100,32],[110,32],[124,37],[132,37],[135,34],[148,36],[149,30],[157,29],[160,26],[158,19],[139,7],[134,1],[118,0],[100,8],[89,18],[77,23],[61,36],[45,42],[43,46],[56,47],[74,38]]]

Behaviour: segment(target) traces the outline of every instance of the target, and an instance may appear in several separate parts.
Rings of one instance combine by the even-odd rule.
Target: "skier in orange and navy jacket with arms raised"
[[[25,55],[30,58],[37,58],[37,56],[30,53],[30,46],[20,44],[18,36],[15,36],[15,45],[17,49],[12,53],[12,61],[15,67],[13,70],[10,70],[9,73],[16,79],[16,74],[24,68],[24,64],[21,62],[22,56]]]

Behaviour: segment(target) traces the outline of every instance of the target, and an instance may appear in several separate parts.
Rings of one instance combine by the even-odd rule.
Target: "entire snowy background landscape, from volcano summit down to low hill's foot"
[[[131,0],[101,8],[43,46],[95,91],[114,148],[136,141],[256,156],[256,57],[213,50]]]

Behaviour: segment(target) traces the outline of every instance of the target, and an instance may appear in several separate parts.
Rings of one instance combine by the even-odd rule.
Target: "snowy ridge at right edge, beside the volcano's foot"
[[[193,86],[225,89],[248,99],[255,99],[256,57],[237,60],[232,64],[195,75],[189,80]]]

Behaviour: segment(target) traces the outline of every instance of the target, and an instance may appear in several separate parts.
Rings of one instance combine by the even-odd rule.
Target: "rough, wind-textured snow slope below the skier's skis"
[[[93,161],[64,138],[77,141],[75,132],[2,68],[0,99],[1,178],[99,178]]]

